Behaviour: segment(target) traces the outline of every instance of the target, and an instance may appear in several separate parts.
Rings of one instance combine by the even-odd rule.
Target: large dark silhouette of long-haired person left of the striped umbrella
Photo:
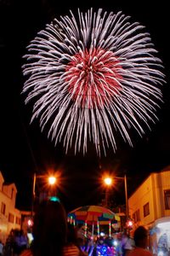
[[[65,256],[67,218],[59,201],[42,201],[34,216],[31,248],[20,256]]]

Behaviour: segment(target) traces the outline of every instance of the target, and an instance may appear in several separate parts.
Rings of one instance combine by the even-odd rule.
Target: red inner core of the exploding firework
[[[121,90],[121,69],[111,51],[86,49],[78,52],[65,69],[72,99],[82,108],[102,108]]]

